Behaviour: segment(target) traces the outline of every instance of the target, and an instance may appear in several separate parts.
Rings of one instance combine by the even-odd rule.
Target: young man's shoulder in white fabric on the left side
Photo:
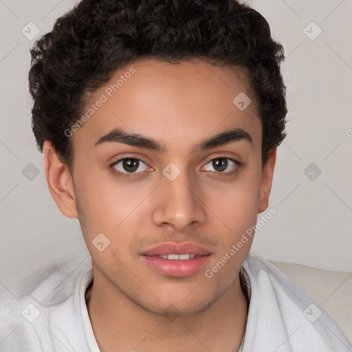
[[[74,271],[56,265],[25,278],[18,292],[1,289],[0,351],[78,351],[79,290],[87,272],[89,265]]]

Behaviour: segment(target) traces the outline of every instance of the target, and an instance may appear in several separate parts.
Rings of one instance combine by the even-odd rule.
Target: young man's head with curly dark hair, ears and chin
[[[267,209],[285,137],[283,47],[267,21],[234,0],[83,0],[31,53],[48,186],[80,221],[95,274],[155,313],[211,305],[252,240],[204,272]],[[162,243],[193,243],[208,260],[161,273],[145,259]]]

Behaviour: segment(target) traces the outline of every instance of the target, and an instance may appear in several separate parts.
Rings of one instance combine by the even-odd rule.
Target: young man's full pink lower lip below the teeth
[[[142,258],[146,262],[146,265],[160,274],[185,277],[199,272],[199,270],[209,262],[210,254],[206,256],[197,256],[196,258],[186,259],[184,261],[177,259],[164,259],[159,256],[142,255]]]

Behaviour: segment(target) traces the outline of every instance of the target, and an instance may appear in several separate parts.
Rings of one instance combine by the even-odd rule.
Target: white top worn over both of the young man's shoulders
[[[352,351],[327,311],[274,265],[248,254],[243,268],[251,288],[243,352]],[[85,304],[91,266],[78,267],[59,287],[52,286],[55,275],[57,267],[22,297],[3,290],[1,352],[100,352]]]

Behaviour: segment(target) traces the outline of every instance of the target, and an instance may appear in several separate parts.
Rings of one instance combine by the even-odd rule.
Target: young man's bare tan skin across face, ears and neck
[[[135,74],[72,135],[73,173],[45,142],[45,174],[58,208],[78,218],[92,259],[94,283],[87,309],[101,351],[236,351],[247,318],[239,270],[252,241],[212,278],[204,274],[237,243],[267,209],[276,150],[261,165],[261,121],[245,74],[200,60],[179,64],[138,61],[118,69],[95,92],[95,102],[120,75]],[[240,92],[252,103],[240,111]],[[94,146],[115,127],[162,142],[167,151],[109,142]],[[201,140],[241,128],[252,144],[238,140],[190,153]],[[122,157],[141,158],[137,177],[111,171]],[[212,160],[229,157],[225,171]],[[162,170],[173,162],[173,181]],[[102,252],[98,233],[111,241]],[[140,253],[165,242],[192,242],[212,253],[202,270],[185,278],[145,265]]]

